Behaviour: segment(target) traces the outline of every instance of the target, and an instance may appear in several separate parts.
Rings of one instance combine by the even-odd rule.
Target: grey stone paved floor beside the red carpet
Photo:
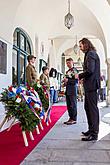
[[[66,112],[21,165],[110,165],[110,125],[102,120],[110,107],[104,106],[105,103],[99,103],[101,120],[97,142],[81,141],[81,131],[87,130],[87,121],[83,103],[78,102],[77,124],[63,124],[68,118]]]

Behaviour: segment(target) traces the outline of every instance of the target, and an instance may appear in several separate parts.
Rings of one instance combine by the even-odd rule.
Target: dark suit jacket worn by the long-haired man
[[[85,92],[100,88],[100,59],[95,51],[85,53],[83,73],[79,74],[82,78]]]

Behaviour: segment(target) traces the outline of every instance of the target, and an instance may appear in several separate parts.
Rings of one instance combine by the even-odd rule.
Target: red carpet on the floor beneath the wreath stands
[[[66,106],[54,106],[51,111],[51,124],[43,124],[44,130],[37,135],[33,132],[34,141],[28,137],[29,146],[24,146],[22,132],[18,124],[14,125],[9,132],[0,133],[0,165],[19,165],[33,148],[42,140],[47,132],[55,125],[58,119],[66,111]]]

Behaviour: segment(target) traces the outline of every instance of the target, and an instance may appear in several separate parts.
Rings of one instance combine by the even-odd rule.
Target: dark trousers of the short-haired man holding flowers
[[[77,89],[74,90],[74,95],[66,95],[66,104],[70,119],[77,120]]]

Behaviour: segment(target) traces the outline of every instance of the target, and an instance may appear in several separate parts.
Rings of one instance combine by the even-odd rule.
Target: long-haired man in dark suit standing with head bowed
[[[87,38],[79,41],[80,50],[85,53],[83,73],[79,79],[83,79],[85,91],[85,104],[88,121],[88,131],[82,132],[85,136],[82,141],[97,140],[99,132],[99,109],[97,107],[97,89],[100,88],[100,59],[96,49]]]

